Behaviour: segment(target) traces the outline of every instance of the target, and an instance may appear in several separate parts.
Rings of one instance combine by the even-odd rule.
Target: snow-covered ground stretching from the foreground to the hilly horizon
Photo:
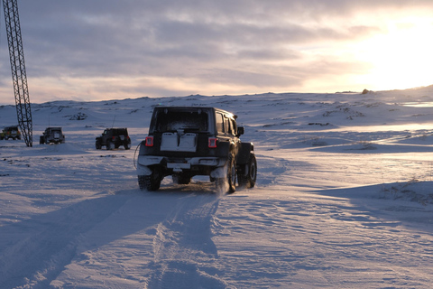
[[[245,126],[251,190],[207,178],[140,191],[135,147],[157,105]],[[0,141],[0,288],[428,288],[433,88],[32,105],[33,147]],[[0,125],[16,125],[0,107]],[[66,144],[39,144],[62,126]],[[106,127],[133,148],[96,150]]]

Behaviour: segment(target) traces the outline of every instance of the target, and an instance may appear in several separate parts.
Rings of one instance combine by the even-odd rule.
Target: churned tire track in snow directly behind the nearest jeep
[[[148,288],[227,288],[212,265],[217,247],[211,224],[218,203],[217,196],[191,194],[157,226]]]

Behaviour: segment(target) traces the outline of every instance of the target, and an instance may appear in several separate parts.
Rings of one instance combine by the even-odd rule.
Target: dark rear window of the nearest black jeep
[[[160,111],[155,130],[159,132],[177,131],[207,131],[207,112],[203,111]]]

